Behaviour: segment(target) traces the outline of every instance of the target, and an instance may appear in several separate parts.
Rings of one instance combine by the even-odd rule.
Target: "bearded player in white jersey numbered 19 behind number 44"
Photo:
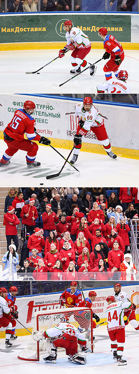
[[[120,283],[116,283],[114,285],[113,296],[115,297],[116,301],[126,301],[126,302],[130,301],[127,293],[125,291],[121,291]],[[127,320],[125,321],[125,325],[128,325],[128,323],[129,323],[128,320],[129,320],[130,324],[135,328],[136,331],[139,332],[139,325],[138,325],[138,322],[136,321],[136,315],[135,315],[136,305],[133,304],[133,303],[132,303],[132,305],[133,305],[132,313],[130,313],[131,310],[129,311],[129,310],[125,309],[124,316],[127,317]]]

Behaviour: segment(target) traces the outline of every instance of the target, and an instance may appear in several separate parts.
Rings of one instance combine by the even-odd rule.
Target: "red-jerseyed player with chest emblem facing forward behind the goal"
[[[61,304],[61,306],[65,304],[68,308],[71,308],[76,307],[80,300],[82,300],[81,291],[77,289],[77,282],[72,281],[70,288],[62,292],[59,298],[59,304]]]

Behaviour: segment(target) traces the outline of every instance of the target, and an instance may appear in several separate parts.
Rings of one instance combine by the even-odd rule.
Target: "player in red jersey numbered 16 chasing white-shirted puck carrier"
[[[124,59],[124,51],[122,45],[114,38],[113,35],[107,35],[107,29],[101,27],[98,30],[98,35],[104,40],[104,49],[106,52],[103,55],[103,59],[109,59],[107,64],[104,65],[103,71],[105,73],[106,80],[112,78],[111,71],[118,76],[119,67]]]

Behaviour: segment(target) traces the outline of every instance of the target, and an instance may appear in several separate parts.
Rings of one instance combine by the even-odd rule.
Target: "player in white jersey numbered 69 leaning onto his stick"
[[[85,136],[90,130],[94,132],[97,140],[103,145],[108,156],[112,159],[116,159],[116,154],[111,151],[111,144],[104,126],[104,120],[97,108],[93,105],[91,97],[85,97],[83,103],[75,106],[75,115],[79,122],[77,133],[74,136],[75,148],[73,157],[70,161],[71,164],[73,165],[77,161],[82,146],[82,136]]]

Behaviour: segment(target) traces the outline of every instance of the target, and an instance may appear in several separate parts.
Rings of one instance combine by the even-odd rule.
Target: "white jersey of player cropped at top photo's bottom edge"
[[[130,93],[131,89],[127,86],[126,82],[123,82],[117,78],[111,78],[106,82],[99,83],[97,85],[98,91],[107,91],[108,93]]]

